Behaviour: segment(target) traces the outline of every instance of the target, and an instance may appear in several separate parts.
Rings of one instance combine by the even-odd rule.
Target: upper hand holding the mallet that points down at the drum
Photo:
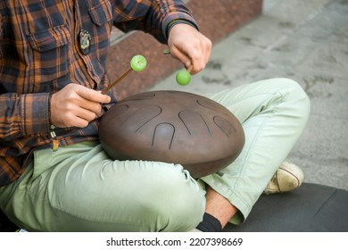
[[[211,40],[186,23],[178,23],[170,29],[168,38],[170,54],[183,63],[191,74],[202,71],[211,56]]]

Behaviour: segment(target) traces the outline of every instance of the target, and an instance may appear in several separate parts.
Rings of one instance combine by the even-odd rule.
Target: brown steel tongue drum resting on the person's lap
[[[181,91],[122,99],[104,113],[99,138],[113,160],[178,163],[194,178],[222,170],[244,146],[244,130],[232,112]]]

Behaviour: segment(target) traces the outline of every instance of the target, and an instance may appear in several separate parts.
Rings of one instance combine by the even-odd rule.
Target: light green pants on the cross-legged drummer
[[[242,122],[235,162],[195,180],[180,165],[111,161],[80,143],[35,152],[21,179],[0,188],[1,209],[29,231],[185,231],[202,220],[203,183],[234,204],[244,221],[305,128],[308,97],[290,79],[268,79],[209,95]]]

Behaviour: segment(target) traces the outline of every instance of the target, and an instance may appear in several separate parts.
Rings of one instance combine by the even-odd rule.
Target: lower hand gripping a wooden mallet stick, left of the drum
[[[94,89],[70,83],[51,97],[51,123],[60,128],[87,127],[102,115],[102,105],[110,96]]]

